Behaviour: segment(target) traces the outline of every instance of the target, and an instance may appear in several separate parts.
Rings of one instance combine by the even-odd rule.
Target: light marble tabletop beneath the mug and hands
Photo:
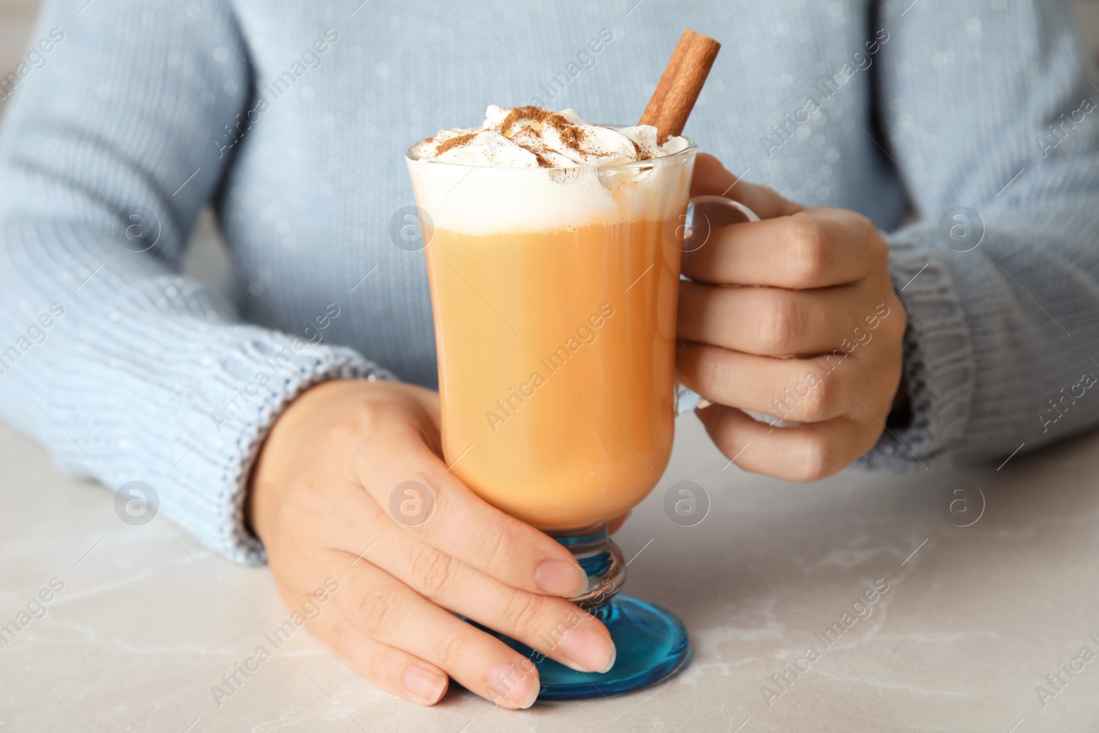
[[[1099,653],[1099,436],[999,470],[796,486],[725,468],[692,417],[678,427],[664,480],[618,540],[641,553],[626,590],[679,613],[693,660],[633,695],[509,712],[457,686],[432,709],[393,699],[304,631],[219,707],[211,686],[287,618],[267,570],[164,517],[124,524],[109,491],[0,425],[0,624],[64,584],[0,648],[0,731],[1099,730],[1099,660],[1079,656]],[[711,499],[696,526],[664,513],[679,480]],[[941,511],[944,489],[963,487],[968,503]],[[963,510],[979,519],[954,526]],[[888,590],[825,646],[879,578]],[[785,689],[769,679],[784,673]],[[1064,684],[1040,699],[1047,674]]]

